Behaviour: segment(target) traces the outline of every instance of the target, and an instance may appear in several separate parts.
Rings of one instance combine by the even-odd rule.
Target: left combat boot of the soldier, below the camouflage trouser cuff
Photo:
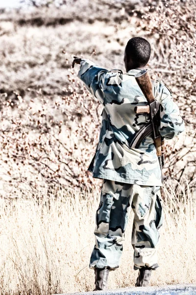
[[[109,269],[95,268],[95,289],[93,291],[107,290]]]

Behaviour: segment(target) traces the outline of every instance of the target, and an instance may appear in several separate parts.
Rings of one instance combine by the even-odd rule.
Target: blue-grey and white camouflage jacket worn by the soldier
[[[139,148],[129,148],[136,132],[149,120],[148,114],[135,114],[137,105],[147,105],[134,75],[140,69],[123,74],[106,70],[82,59],[78,77],[103,105],[99,142],[88,171],[93,177],[119,182],[161,186],[161,170],[153,139],[146,137]],[[171,91],[153,81],[154,97],[160,102],[160,134],[172,139],[184,130],[184,121]]]

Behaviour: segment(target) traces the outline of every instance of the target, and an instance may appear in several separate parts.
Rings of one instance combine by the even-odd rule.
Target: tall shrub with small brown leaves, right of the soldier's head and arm
[[[139,24],[149,36],[155,36],[151,64],[172,89],[186,125],[184,141],[173,144],[176,140],[167,149],[166,168],[176,180],[176,189],[185,171],[189,185],[194,187],[196,183],[195,5],[195,0],[159,1],[158,5],[148,1]]]

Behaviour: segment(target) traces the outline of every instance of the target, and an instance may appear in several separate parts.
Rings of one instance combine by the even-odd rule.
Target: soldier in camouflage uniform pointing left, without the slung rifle
[[[95,290],[107,290],[109,271],[120,265],[130,208],[134,211],[134,269],[139,269],[136,286],[148,286],[151,271],[158,267],[163,209],[156,148],[151,135],[139,148],[129,147],[134,135],[149,121],[148,114],[134,112],[135,106],[147,105],[134,76],[145,68],[150,52],[146,39],[130,39],[124,51],[125,74],[121,70],[108,71],[89,59],[73,60],[73,67],[80,64],[78,77],[103,105],[99,143],[88,168],[93,177],[102,178],[96,243],[89,265],[95,269]],[[160,103],[159,133],[172,139],[184,130],[184,121],[171,91],[159,81],[152,85],[154,98]]]

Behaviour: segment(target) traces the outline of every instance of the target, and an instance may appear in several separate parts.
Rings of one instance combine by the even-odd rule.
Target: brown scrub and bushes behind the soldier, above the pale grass
[[[151,76],[172,90],[186,124],[186,134],[168,142],[165,170],[176,189],[186,174],[195,187],[195,1],[70,3],[0,15],[1,193],[100,183],[86,169],[101,106],[71,70],[72,58],[123,69],[135,35],[150,41]]]

